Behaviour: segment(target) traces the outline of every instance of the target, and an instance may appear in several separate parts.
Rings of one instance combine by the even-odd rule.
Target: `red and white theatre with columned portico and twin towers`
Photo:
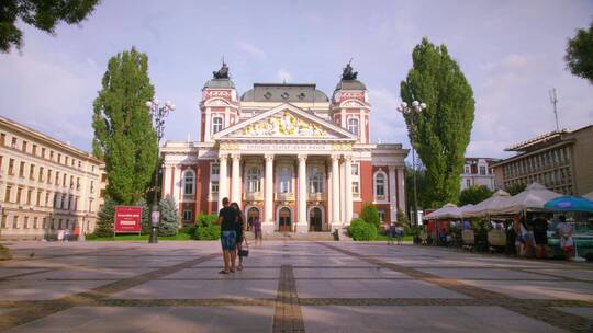
[[[199,141],[161,148],[163,195],[186,223],[216,213],[223,197],[260,219],[264,232],[333,231],[366,203],[384,221],[405,210],[407,150],[369,141],[371,104],[350,65],[329,99],[295,83],[255,83],[239,96],[223,64],[200,111]]]

